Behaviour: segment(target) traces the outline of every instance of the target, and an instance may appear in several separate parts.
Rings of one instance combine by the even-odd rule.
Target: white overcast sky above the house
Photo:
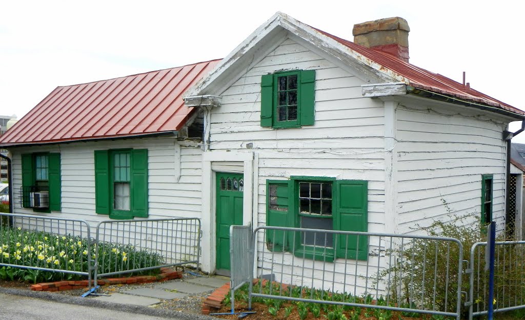
[[[20,119],[57,86],[223,58],[277,11],[349,40],[356,23],[403,17],[414,65],[459,82],[466,71],[472,88],[525,110],[524,9],[507,0],[5,0],[0,114]]]

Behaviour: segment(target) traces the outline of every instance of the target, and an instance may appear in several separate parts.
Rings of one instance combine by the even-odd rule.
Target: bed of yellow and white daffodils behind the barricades
[[[81,275],[59,270],[88,272],[89,253],[96,257],[96,244],[80,237],[0,226],[0,263],[56,269],[53,271],[0,268],[0,279],[40,281],[77,280]],[[90,246],[88,248],[88,246]],[[148,268],[164,264],[158,253],[124,246],[100,243],[99,273]],[[93,263],[92,263],[93,264]],[[158,271],[152,270],[148,274]]]

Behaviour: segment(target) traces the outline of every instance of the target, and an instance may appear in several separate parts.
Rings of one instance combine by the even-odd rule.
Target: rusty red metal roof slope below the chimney
[[[319,31],[321,34],[328,36],[334,39],[335,41],[340,42],[342,45],[358,52],[364,57],[376,63],[379,63],[379,65],[381,65],[382,67],[392,70],[400,74],[401,76],[407,78],[409,80],[409,85],[412,87],[436,93],[451,95],[453,97],[457,97],[464,100],[480,102],[487,105],[496,106],[497,108],[507,110],[513,113],[525,115],[525,112],[523,112],[520,109],[514,108],[513,106],[507,103],[494,99],[485,93],[481,93],[467,86],[464,86],[463,83],[459,83],[457,81],[449,79],[445,76],[442,76],[439,73],[430,72],[423,68],[416,67],[411,63],[397,59],[394,56],[386,54],[385,52],[380,52],[360,45],[356,45],[354,44],[354,42],[341,39],[319,29],[316,30]]]

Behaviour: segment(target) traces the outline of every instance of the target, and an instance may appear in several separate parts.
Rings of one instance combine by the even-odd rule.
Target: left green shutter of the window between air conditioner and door
[[[95,210],[97,214],[110,212],[109,153],[107,150],[95,151]]]

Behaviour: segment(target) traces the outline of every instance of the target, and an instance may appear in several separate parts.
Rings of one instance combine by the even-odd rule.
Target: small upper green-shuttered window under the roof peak
[[[313,125],[315,70],[265,74],[261,78],[261,126]]]

